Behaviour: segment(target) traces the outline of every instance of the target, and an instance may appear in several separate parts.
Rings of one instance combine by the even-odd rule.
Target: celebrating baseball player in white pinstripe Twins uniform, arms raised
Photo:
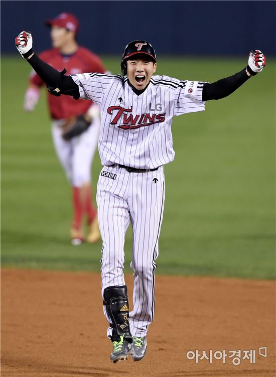
[[[248,65],[233,76],[209,84],[156,76],[156,53],[149,42],[130,42],[120,75],[83,73],[64,77],[39,59],[32,36],[16,39],[20,53],[54,95],[92,99],[100,106],[99,153],[103,168],[97,185],[98,220],[103,241],[101,274],[111,361],[141,360],[154,318],[155,260],[161,229],[165,178],[163,165],[173,161],[172,119],[203,111],[205,101],[231,94],[260,72],[265,57],[251,50]],[[133,229],[133,309],[128,311],[124,282],[124,235]]]

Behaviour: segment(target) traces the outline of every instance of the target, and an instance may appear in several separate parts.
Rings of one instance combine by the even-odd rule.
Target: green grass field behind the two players
[[[104,59],[119,73],[119,57]],[[244,59],[159,57],[159,74],[213,82]],[[69,243],[71,190],[50,134],[45,93],[32,114],[23,99],[30,67],[1,61],[2,266],[99,271],[101,244]],[[275,62],[202,113],[176,117],[176,157],[165,167],[157,273],[275,277]],[[93,163],[93,187],[101,168]],[[125,243],[130,271],[131,229]]]

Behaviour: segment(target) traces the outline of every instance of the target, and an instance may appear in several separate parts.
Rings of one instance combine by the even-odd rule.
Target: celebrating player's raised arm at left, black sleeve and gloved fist
[[[74,99],[80,97],[78,85],[70,76],[64,76],[66,73],[65,69],[62,72],[57,71],[33,52],[33,38],[31,33],[20,33],[16,38],[16,47],[22,57],[31,64],[36,73],[45,82],[51,94],[56,96],[67,94],[73,96]]]

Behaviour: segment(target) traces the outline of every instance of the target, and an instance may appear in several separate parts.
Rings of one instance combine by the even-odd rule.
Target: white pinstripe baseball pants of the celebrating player
[[[129,321],[130,331],[134,336],[146,336],[154,317],[154,271],[164,200],[163,166],[143,173],[128,172],[118,166],[104,166],[101,170],[97,185],[97,205],[103,241],[102,295],[109,286],[125,285],[124,235],[131,222],[133,241],[130,266],[134,270],[134,282],[133,310],[129,313]],[[111,323],[105,307],[104,313]],[[109,327],[107,335],[111,335],[111,332]]]

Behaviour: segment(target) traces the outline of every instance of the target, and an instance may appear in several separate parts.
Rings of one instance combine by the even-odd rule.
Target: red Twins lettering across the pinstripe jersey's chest
[[[155,123],[161,123],[165,121],[164,114],[129,114],[132,112],[132,106],[130,109],[125,109],[121,106],[109,106],[107,109],[108,114],[115,115],[111,120],[110,124],[117,125],[118,122],[121,123],[118,125],[118,128],[122,129],[133,129],[140,128],[145,126],[150,126]]]

